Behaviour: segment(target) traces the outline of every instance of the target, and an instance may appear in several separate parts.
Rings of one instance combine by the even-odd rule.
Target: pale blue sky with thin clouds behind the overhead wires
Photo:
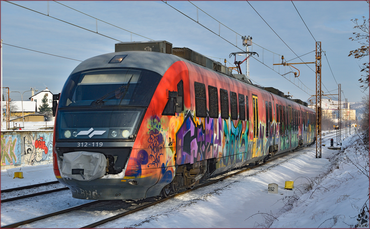
[[[343,91],[342,100],[347,98],[348,102],[359,102],[364,96],[358,83],[361,78],[359,65],[363,62],[348,57],[348,54],[360,47],[356,41],[349,40],[352,33],[357,32],[351,19],[369,17],[366,1],[293,1],[294,5],[292,1],[249,1],[250,4],[247,1],[12,3],[28,9],[0,2],[0,33],[4,43],[3,87],[9,87],[10,91],[23,93],[36,87],[40,92],[48,87],[52,93],[60,93],[65,80],[80,61],[114,52],[114,44],[118,42],[166,40],[173,47],[188,47],[214,60],[221,59],[221,63],[226,59],[229,62],[227,66],[234,66],[234,58],[229,58],[229,54],[245,50],[241,36],[251,36],[254,44],[249,49],[259,54],[259,57],[253,56],[255,59],[250,58],[249,75],[253,83],[275,87],[285,94],[289,92],[293,99],[309,99],[316,88],[315,64],[294,65],[300,71],[298,79],[295,79],[292,73],[288,73],[291,71],[289,67],[273,66],[273,63],[281,63],[281,55],[289,61],[296,58],[296,54],[306,55],[300,57],[302,60],[297,58],[289,63],[314,62],[315,52],[312,51],[315,50],[316,40],[322,42],[326,55],[322,55],[324,94],[338,94],[338,83]],[[243,59],[243,56],[237,57],[237,60]],[[245,69],[243,63],[242,73]],[[288,73],[285,77],[290,81],[278,72]],[[25,92],[24,100],[30,96],[31,92]],[[10,93],[10,97],[21,100],[19,93]],[[337,96],[330,97],[337,99]]]

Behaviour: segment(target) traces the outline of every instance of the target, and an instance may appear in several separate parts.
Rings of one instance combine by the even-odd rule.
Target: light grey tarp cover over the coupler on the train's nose
[[[60,172],[64,177],[88,181],[104,176],[105,166],[107,166],[107,159],[102,153],[70,152],[63,154]]]

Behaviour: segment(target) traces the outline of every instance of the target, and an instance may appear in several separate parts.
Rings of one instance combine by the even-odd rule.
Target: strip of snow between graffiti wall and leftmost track
[[[14,178],[14,172],[23,172],[23,179]],[[53,165],[24,166],[13,169],[1,170],[1,190],[34,185],[57,180],[54,175]]]

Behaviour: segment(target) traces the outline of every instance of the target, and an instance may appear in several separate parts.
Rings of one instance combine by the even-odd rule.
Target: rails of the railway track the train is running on
[[[309,151],[309,150],[306,150],[305,152],[307,152],[307,151]],[[138,212],[138,211],[143,210],[145,208],[149,208],[151,206],[157,205],[158,203],[161,203],[161,202],[164,202],[166,200],[175,198],[176,196],[184,195],[185,193],[191,192],[191,191],[196,190],[196,189],[199,189],[201,187],[212,185],[214,183],[217,183],[217,182],[222,181],[224,179],[227,179],[229,177],[238,175],[239,173],[246,172],[246,171],[251,170],[251,169],[255,169],[255,168],[259,167],[259,166],[266,165],[267,163],[272,162],[272,161],[276,160],[279,157],[286,156],[289,153],[290,152],[282,153],[281,155],[277,155],[273,159],[270,159],[270,160],[268,160],[267,162],[264,162],[264,163],[260,163],[259,165],[255,165],[255,166],[247,167],[247,168],[239,168],[239,169],[236,169],[235,170],[236,172],[233,172],[233,173],[228,174],[226,176],[222,176],[222,177],[219,177],[219,178],[216,178],[216,179],[212,179],[211,178],[212,180],[209,180],[208,182],[205,182],[205,183],[202,183],[202,184],[200,184],[198,186],[195,186],[193,189],[184,190],[182,192],[175,193],[175,194],[169,196],[168,198],[159,199],[159,200],[153,200],[150,203],[147,203],[147,204],[144,204],[144,205],[141,205],[141,206],[137,206],[134,209],[129,209],[129,210],[126,209],[125,212],[119,213],[119,214],[114,215],[114,216],[111,216],[109,218],[105,218],[105,219],[99,220],[97,222],[91,223],[90,225],[83,226],[82,228],[94,228],[94,227],[97,227],[97,226],[102,225],[104,223],[111,222],[112,220],[121,218],[123,216],[127,216],[129,214],[134,213],[134,212]],[[304,153],[304,152],[302,152],[302,153]],[[226,172],[226,173],[228,173],[228,172]],[[148,198],[148,199],[150,199],[150,198]],[[152,198],[152,199],[154,199],[154,198]],[[63,213],[71,212],[73,210],[79,210],[79,209],[82,209],[82,208],[86,208],[86,207],[89,207],[89,206],[97,205],[99,203],[107,202],[107,201],[109,201],[109,200],[95,200],[93,202],[89,202],[89,203],[85,203],[85,204],[82,204],[82,205],[74,206],[74,207],[71,207],[71,208],[68,208],[68,209],[64,209],[64,210],[56,211],[56,212],[53,212],[53,213],[48,213],[46,215],[41,215],[41,216],[37,216],[37,217],[31,218],[31,219],[26,219],[26,220],[22,220],[22,221],[19,221],[19,222],[16,222],[16,223],[11,223],[11,224],[8,224],[8,225],[4,225],[4,226],[1,226],[1,228],[16,228],[16,227],[21,226],[21,225],[26,225],[26,224],[29,224],[29,223],[32,223],[32,222],[36,222],[38,220],[46,219],[46,218],[49,218],[49,217],[52,217],[52,216],[57,216],[57,215],[60,215],[60,214],[63,214]]]

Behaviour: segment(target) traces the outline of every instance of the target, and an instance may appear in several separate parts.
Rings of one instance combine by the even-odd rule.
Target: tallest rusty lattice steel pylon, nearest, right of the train
[[[316,42],[316,158],[321,158],[321,42]]]

